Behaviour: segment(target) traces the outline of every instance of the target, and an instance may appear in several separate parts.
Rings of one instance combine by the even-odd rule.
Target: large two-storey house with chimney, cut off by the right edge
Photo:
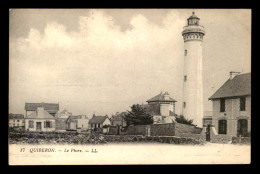
[[[251,132],[251,73],[230,78],[209,98],[212,125],[218,134],[248,136]]]

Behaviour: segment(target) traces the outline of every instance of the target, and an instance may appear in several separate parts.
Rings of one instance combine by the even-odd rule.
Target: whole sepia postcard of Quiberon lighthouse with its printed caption
[[[251,9],[9,9],[9,165],[251,163]]]

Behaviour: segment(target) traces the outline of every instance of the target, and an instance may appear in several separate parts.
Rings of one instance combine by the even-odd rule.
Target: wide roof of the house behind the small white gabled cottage
[[[43,107],[44,110],[59,110],[57,103],[25,103],[26,111],[36,111],[38,107]]]

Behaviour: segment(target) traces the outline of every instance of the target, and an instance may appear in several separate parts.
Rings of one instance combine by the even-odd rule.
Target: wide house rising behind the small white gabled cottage
[[[27,115],[31,115],[32,113],[36,112],[37,108],[41,107],[45,111],[47,111],[53,117],[56,117],[59,111],[59,104],[58,103],[25,103],[25,111]]]

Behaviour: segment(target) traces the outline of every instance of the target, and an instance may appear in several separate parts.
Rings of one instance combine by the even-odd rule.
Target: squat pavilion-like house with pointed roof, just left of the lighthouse
[[[175,99],[168,92],[160,93],[146,101],[141,107],[153,115],[154,124],[172,123],[175,120]]]

